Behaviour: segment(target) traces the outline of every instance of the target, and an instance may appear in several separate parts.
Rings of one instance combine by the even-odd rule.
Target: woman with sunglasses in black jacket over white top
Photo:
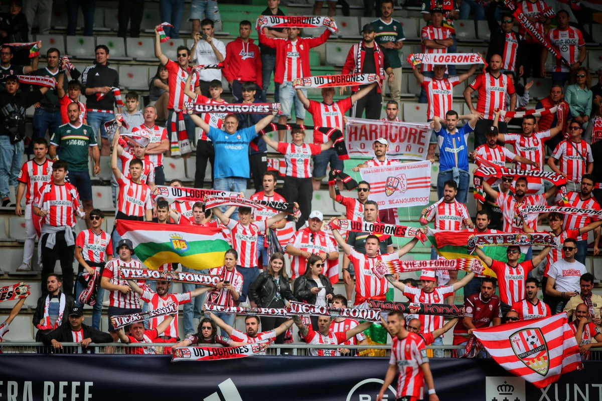
[[[326,306],[332,299],[334,289],[330,280],[322,274],[324,262],[318,255],[312,255],[307,260],[305,274],[294,283],[294,295],[306,304]],[[318,317],[311,316],[311,325],[318,327]]]

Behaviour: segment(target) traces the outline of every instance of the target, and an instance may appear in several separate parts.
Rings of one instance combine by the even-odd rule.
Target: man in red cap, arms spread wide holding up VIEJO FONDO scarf
[[[419,302],[421,304],[442,304],[444,299],[448,296],[452,297],[456,291],[464,287],[466,284],[473,280],[474,272],[470,272],[462,280],[456,281],[450,286],[437,287],[437,278],[434,270],[423,269],[420,274],[420,284],[422,288],[408,286],[403,284],[401,281],[394,279],[393,275],[385,275],[389,283],[393,284],[393,287],[400,290],[403,295],[407,296],[410,302]],[[419,319],[424,331],[433,332],[443,326],[443,316],[431,316],[427,314],[411,314],[406,316],[406,319]],[[433,345],[443,345],[443,338],[437,337],[433,341]],[[443,357],[443,350],[436,349],[435,357]]]

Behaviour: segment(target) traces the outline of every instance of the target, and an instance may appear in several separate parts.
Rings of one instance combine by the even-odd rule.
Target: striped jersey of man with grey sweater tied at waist
[[[34,199],[34,206],[48,210],[48,215],[42,219],[43,224],[61,227],[62,225],[75,225],[75,215],[81,203],[75,186],[68,182],[56,185],[49,182],[42,186]]]

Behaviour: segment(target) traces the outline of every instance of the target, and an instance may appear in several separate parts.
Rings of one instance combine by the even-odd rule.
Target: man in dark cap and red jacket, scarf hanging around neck
[[[363,40],[354,44],[343,66],[341,74],[376,74],[380,79],[380,86],[372,86],[371,90],[362,99],[358,99],[353,105],[352,115],[361,118],[366,111],[366,118],[369,120],[378,120],[382,111],[381,88],[385,81],[385,73],[389,76],[389,85],[395,80],[393,68],[389,63],[389,57],[386,52],[376,43],[376,28],[371,23],[367,23],[362,28]],[[343,94],[346,87],[341,87],[339,94]],[[352,87],[352,92],[357,94],[359,86]]]

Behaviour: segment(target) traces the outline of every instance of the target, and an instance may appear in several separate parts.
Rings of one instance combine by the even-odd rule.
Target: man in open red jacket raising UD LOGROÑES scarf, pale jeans
[[[262,16],[259,16],[261,18]],[[301,29],[285,28],[288,39],[270,38],[259,30],[259,43],[276,49],[276,70],[274,73],[274,82],[280,84],[280,103],[282,114],[278,119],[279,124],[286,124],[291,117],[291,106],[295,102],[295,116],[297,124],[303,124],[305,118],[305,109],[303,103],[296,96],[293,89],[293,81],[305,76],[311,76],[309,69],[309,49],[320,46],[330,37],[329,29],[326,29],[320,37],[302,38],[299,37]],[[307,91],[303,90],[307,96]],[[284,130],[278,132],[278,140],[284,141]]]

